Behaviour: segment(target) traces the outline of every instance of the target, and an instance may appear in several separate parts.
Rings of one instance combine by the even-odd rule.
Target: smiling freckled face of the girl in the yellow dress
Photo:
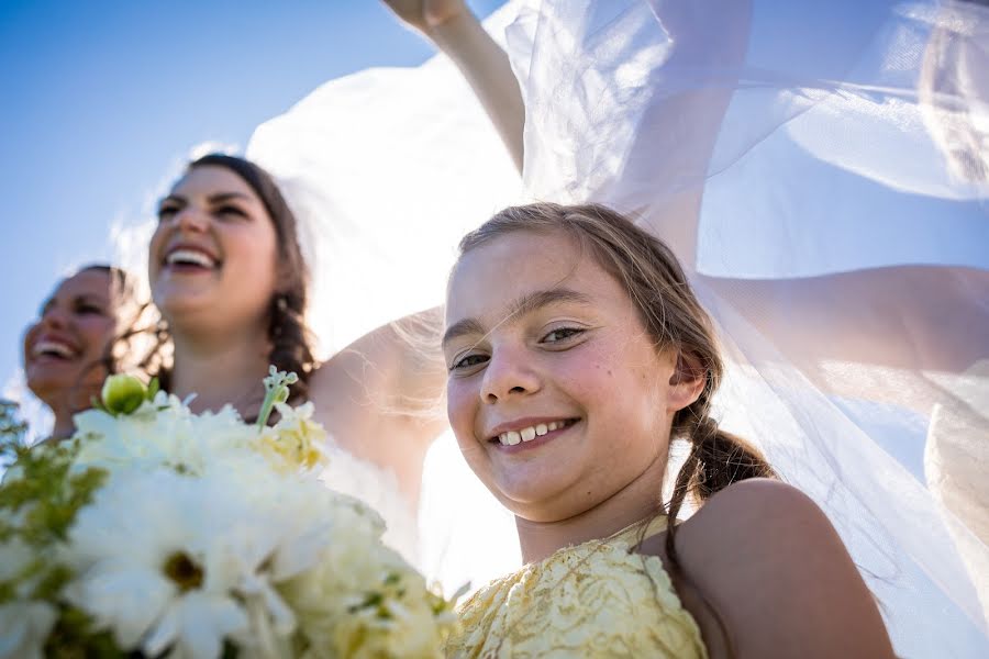
[[[568,236],[514,232],[468,252],[446,325],[451,425],[518,516],[569,518],[665,465],[673,414],[690,402],[670,384],[675,356]]]

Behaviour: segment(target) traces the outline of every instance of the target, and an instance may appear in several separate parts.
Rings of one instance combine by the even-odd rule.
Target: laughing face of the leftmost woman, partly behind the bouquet
[[[65,279],[42,306],[37,322],[27,327],[24,375],[31,391],[46,403],[105,377],[105,370],[95,365],[116,331],[113,283],[110,272],[96,269]]]

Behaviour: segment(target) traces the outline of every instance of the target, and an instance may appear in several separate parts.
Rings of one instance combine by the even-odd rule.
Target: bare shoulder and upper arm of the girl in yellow
[[[665,536],[665,534],[664,534]],[[664,558],[664,536],[641,550]],[[882,618],[837,532],[804,493],[752,479],[677,528],[677,591],[712,657],[892,656]]]

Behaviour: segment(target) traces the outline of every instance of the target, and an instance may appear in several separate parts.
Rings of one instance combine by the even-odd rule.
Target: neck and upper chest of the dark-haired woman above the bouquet
[[[171,393],[180,399],[195,393],[193,412],[220,410],[227,403],[242,415],[257,411],[270,351],[265,332],[254,328],[204,336],[175,330],[173,340]]]

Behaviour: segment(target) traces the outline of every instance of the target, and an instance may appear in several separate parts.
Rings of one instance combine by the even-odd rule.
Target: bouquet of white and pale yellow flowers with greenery
[[[71,440],[32,449],[4,410],[0,658],[438,656],[451,602],[318,479],[295,381],[273,367],[248,425],[113,376]]]

